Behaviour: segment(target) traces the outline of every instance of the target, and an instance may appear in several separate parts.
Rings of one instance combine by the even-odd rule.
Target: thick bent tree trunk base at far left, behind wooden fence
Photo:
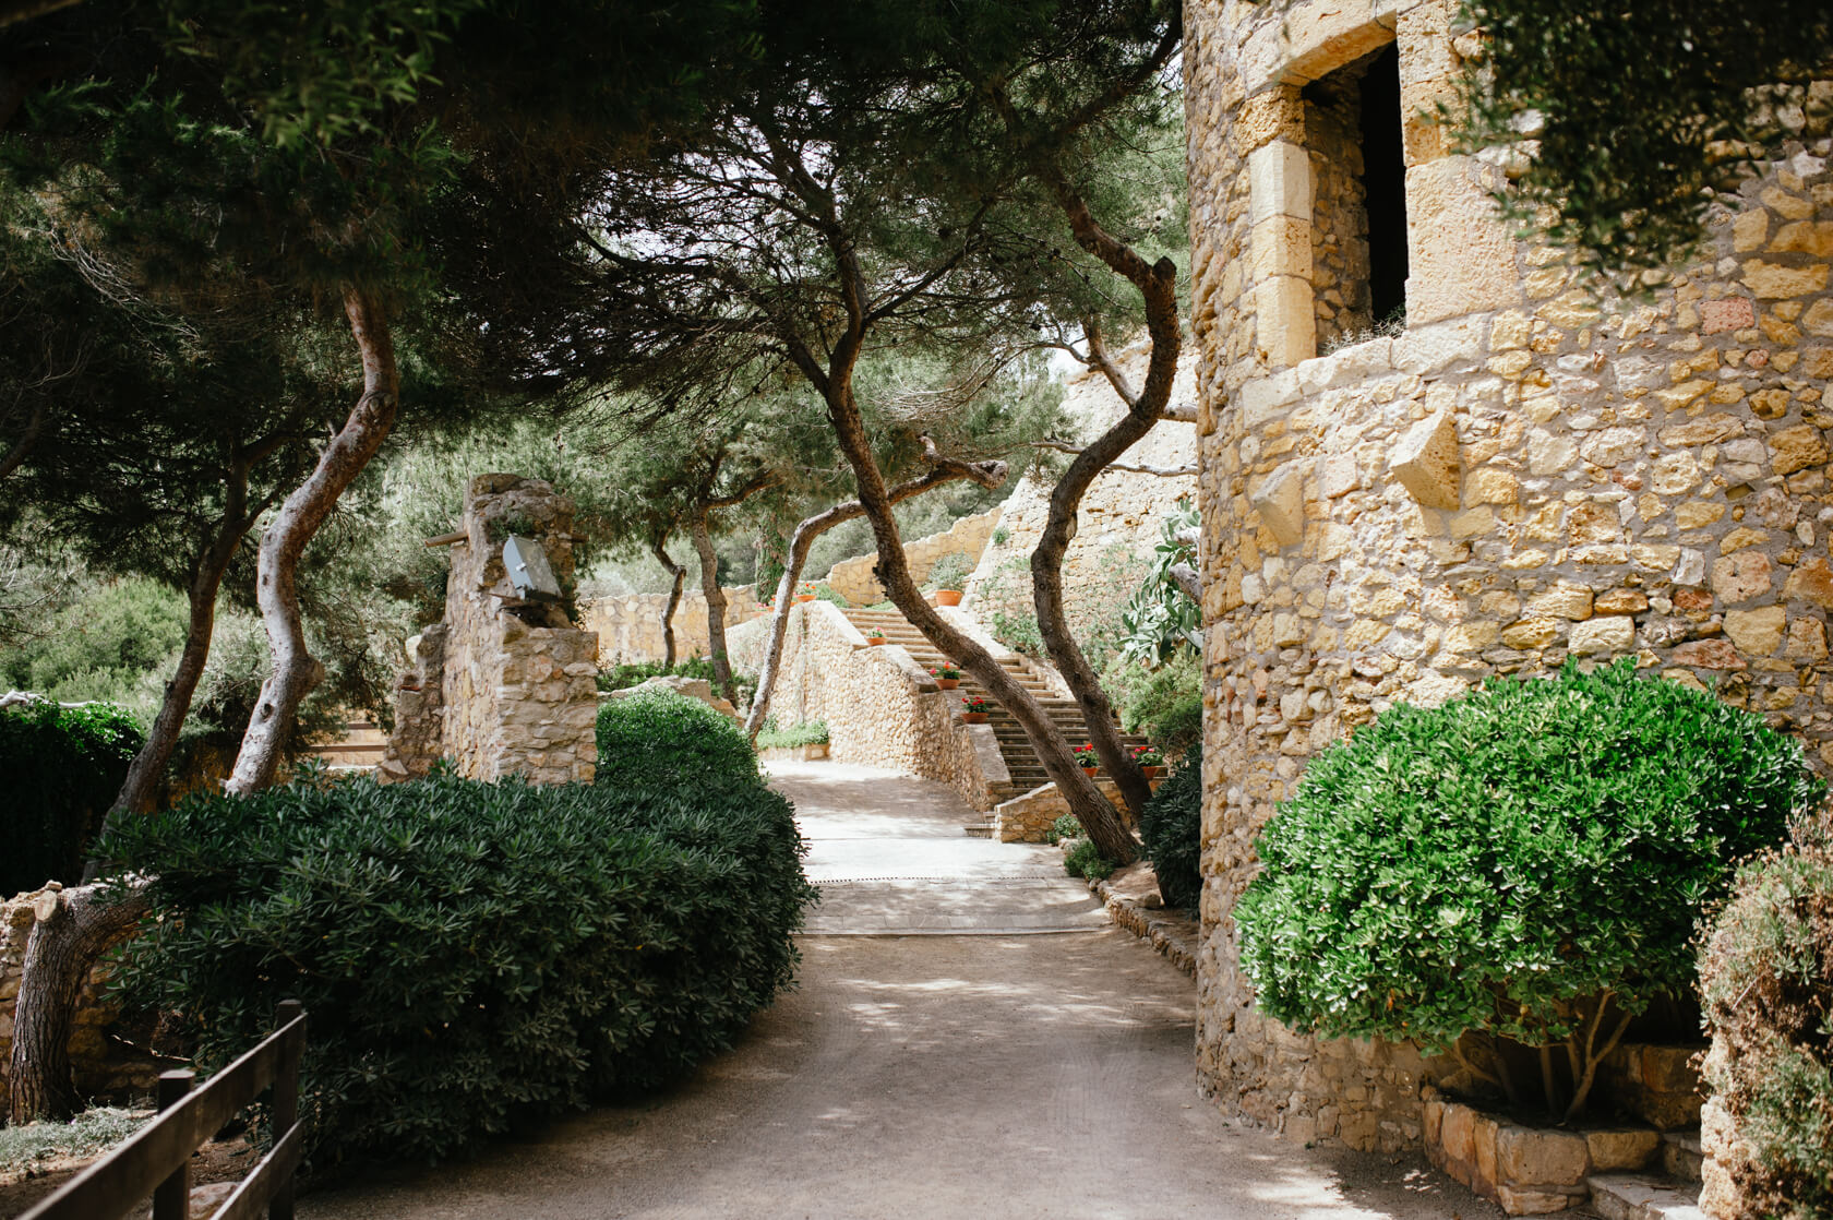
[[[126,936],[148,904],[143,892],[99,904],[101,886],[79,886],[38,899],[13,1011],[7,1064],[7,1121],[68,1119],[82,1108],[70,1070],[70,1031],[77,1000],[97,958]]]

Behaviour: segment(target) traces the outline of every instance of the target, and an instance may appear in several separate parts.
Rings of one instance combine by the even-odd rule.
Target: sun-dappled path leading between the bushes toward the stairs
[[[816,767],[774,769],[814,844],[810,877],[891,879],[825,886],[876,893],[876,906],[832,901],[823,917],[920,919],[933,893],[909,882],[922,877],[942,879],[953,910],[960,873],[977,871],[1001,906],[966,912],[986,925],[968,928],[979,936],[805,936],[801,985],[678,1088],[548,1123],[473,1161],[312,1192],[301,1216],[1501,1214],[1421,1165],[1327,1156],[1232,1125],[1195,1093],[1195,996],[1164,958],[1113,928],[993,930],[1023,914],[1014,895],[1048,901],[1041,882],[1054,879],[1037,860],[1056,853],[955,842],[964,837],[937,813],[951,807],[937,785]]]

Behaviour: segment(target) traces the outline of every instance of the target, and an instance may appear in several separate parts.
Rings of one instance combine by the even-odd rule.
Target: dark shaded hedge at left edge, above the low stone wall
[[[0,712],[0,897],[82,879],[90,840],[114,804],[141,734],[115,706],[35,703]]]

